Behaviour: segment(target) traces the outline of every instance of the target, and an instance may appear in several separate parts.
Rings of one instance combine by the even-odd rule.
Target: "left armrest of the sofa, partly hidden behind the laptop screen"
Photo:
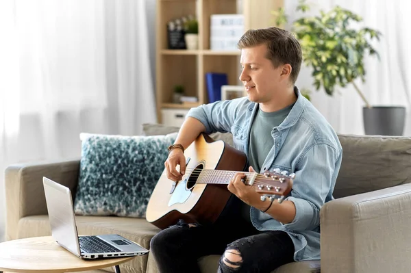
[[[25,216],[47,214],[42,177],[75,191],[79,159],[15,164],[5,170],[5,239],[18,239],[18,221]]]

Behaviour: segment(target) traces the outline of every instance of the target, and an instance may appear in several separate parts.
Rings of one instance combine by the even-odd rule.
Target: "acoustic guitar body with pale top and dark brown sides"
[[[160,229],[176,224],[179,219],[200,224],[216,222],[234,195],[227,190],[227,183],[196,183],[199,171],[243,171],[247,164],[244,153],[221,140],[214,142],[203,134],[186,149],[184,155],[190,161],[183,180],[173,190],[173,181],[166,177],[164,170],[147,205],[147,221]],[[193,170],[192,174],[189,170]]]

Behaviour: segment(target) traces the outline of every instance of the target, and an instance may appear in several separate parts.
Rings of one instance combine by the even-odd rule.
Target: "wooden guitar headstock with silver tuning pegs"
[[[293,179],[295,174],[288,174],[288,172],[273,172],[266,171],[264,174],[258,174],[253,182],[253,187],[256,192],[262,194],[261,200],[269,198],[273,200],[275,196],[282,196],[278,202],[282,203],[284,196],[288,195],[292,189]]]

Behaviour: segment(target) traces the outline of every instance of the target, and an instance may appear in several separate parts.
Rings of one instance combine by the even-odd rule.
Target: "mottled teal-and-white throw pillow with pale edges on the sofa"
[[[151,192],[177,133],[152,136],[82,133],[77,215],[145,218]]]

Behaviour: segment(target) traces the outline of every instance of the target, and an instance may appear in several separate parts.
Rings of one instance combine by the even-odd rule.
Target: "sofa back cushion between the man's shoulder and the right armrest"
[[[338,138],[343,161],[335,198],[411,182],[411,138],[342,134]]]

